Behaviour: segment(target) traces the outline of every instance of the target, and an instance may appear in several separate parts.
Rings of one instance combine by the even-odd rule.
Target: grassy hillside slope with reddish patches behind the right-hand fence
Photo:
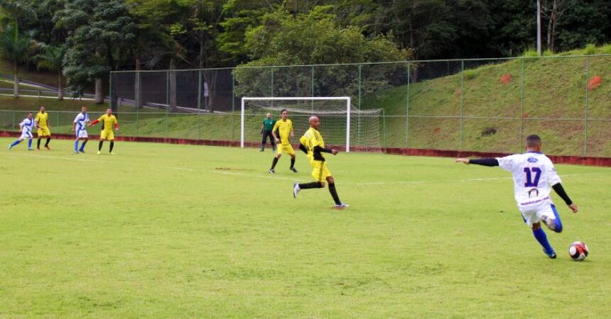
[[[606,52],[607,47],[593,53]],[[506,74],[511,79],[503,83]],[[595,76],[602,83],[588,91]],[[405,117],[386,119],[390,147],[518,152],[521,137],[536,133],[550,154],[584,155],[587,150],[588,155],[608,157],[610,80],[611,57],[589,57],[587,67],[584,57],[508,60],[474,69],[465,66],[464,74],[411,84],[409,94],[407,86],[379,91],[365,96],[361,105],[384,108],[394,116],[405,116],[409,107],[409,123]],[[590,121],[584,145],[586,103]]]

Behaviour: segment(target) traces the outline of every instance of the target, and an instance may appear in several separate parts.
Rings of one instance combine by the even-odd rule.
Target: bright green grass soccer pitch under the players
[[[292,198],[293,180],[311,180],[301,154],[298,174],[282,157],[270,175],[271,152],[254,149],[96,145],[0,151],[0,317],[608,313],[608,168],[557,165],[580,213],[554,194],[565,230],[548,232],[551,260],[498,168],[342,153],[329,165],[351,206],[335,211],[326,189]],[[584,262],[566,253],[574,240],[590,247]]]

